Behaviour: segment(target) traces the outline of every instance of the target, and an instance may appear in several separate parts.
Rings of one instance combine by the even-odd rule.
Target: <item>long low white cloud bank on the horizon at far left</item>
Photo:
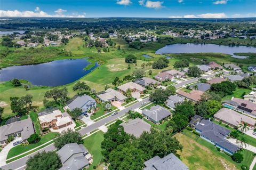
[[[61,11],[61,9],[57,10],[58,12]],[[56,11],[55,11],[56,12]],[[62,14],[62,12],[66,12],[66,10],[63,10],[61,13],[57,14],[48,14],[44,11],[41,11],[39,7],[36,7],[35,12],[34,11],[18,11],[18,10],[0,10],[0,17],[58,17],[58,18],[85,18],[84,14],[72,14],[72,15],[65,15]]]

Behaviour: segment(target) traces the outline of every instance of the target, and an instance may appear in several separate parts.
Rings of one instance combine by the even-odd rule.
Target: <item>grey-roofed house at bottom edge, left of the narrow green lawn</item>
[[[62,163],[59,170],[80,170],[92,162],[92,156],[83,144],[65,144],[57,153]]]

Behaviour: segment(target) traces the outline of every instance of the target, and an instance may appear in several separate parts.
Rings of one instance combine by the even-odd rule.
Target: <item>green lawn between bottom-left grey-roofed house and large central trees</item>
[[[89,137],[84,139],[84,146],[93,156],[93,163],[89,167],[89,170],[93,169],[93,166],[97,166],[100,164],[103,156],[101,153],[101,142],[104,140],[103,132],[99,131],[97,133],[92,134]]]

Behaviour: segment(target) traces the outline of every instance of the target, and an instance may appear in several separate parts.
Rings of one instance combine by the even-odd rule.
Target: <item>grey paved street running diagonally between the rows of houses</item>
[[[208,76],[203,76],[203,77],[201,77],[201,78],[205,78],[205,79],[206,79],[206,78],[211,78],[211,77],[214,77],[214,74],[208,75]],[[179,87],[181,87],[181,86],[183,86],[183,85],[186,85],[186,84],[189,84],[189,83],[193,83],[193,82],[197,82],[197,80],[198,80],[198,78],[189,79],[189,80],[186,80],[185,82],[181,82],[181,83],[176,84],[175,87],[176,87],[176,88],[179,88]],[[142,100],[142,101],[140,101],[140,102],[138,102],[138,103],[135,103],[135,104],[133,104],[132,106],[129,106],[129,107],[125,108],[124,110],[119,111],[118,114],[116,114],[116,115],[114,115],[114,116],[108,116],[108,117],[106,117],[106,118],[103,118],[103,119],[99,120],[98,122],[96,122],[96,123],[94,123],[94,124],[92,124],[92,125],[90,125],[90,126],[87,126],[87,127],[82,128],[82,129],[79,130],[78,132],[81,133],[82,135],[85,135],[86,133],[90,133],[90,132],[92,132],[94,129],[97,129],[97,128],[99,128],[100,126],[105,125],[105,124],[111,122],[112,120],[115,120],[116,118],[125,115],[125,113],[126,113],[128,110],[134,110],[134,109],[136,109],[136,108],[139,108],[139,107],[141,106],[141,103],[142,103],[142,102],[149,103],[149,99],[147,98],[147,99],[144,99],[144,100]],[[54,150],[54,149],[55,149],[55,148],[54,148],[54,145],[53,145],[53,144],[50,144],[50,145],[48,145],[46,148],[44,148],[45,151],[51,151],[51,150]],[[40,151],[42,151],[42,150],[40,150]],[[37,151],[37,152],[39,152],[39,151]],[[6,165],[2,166],[1,168],[2,168],[2,169],[5,169],[5,170],[8,170],[8,169],[13,169],[13,170],[14,170],[14,169],[17,169],[17,170],[18,170],[18,169],[19,169],[19,170],[20,170],[20,169],[23,169],[23,168],[24,168],[23,166],[26,164],[26,161],[28,160],[28,158],[29,158],[30,156],[35,155],[37,152],[34,152],[33,154],[31,154],[31,155],[29,155],[29,156],[26,156],[26,157],[23,157],[23,158],[21,158],[21,159],[12,161],[11,163],[6,164]]]

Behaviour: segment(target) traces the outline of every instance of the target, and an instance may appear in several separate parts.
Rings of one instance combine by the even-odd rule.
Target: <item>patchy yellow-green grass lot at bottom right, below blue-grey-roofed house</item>
[[[244,159],[242,163],[236,163],[226,153],[219,152],[213,144],[196,136],[187,129],[182,133],[176,134],[175,137],[183,145],[180,155],[189,169],[198,169],[198,167],[200,167],[199,169],[241,169],[242,165],[250,167],[252,163],[253,152],[249,150],[241,150]]]

